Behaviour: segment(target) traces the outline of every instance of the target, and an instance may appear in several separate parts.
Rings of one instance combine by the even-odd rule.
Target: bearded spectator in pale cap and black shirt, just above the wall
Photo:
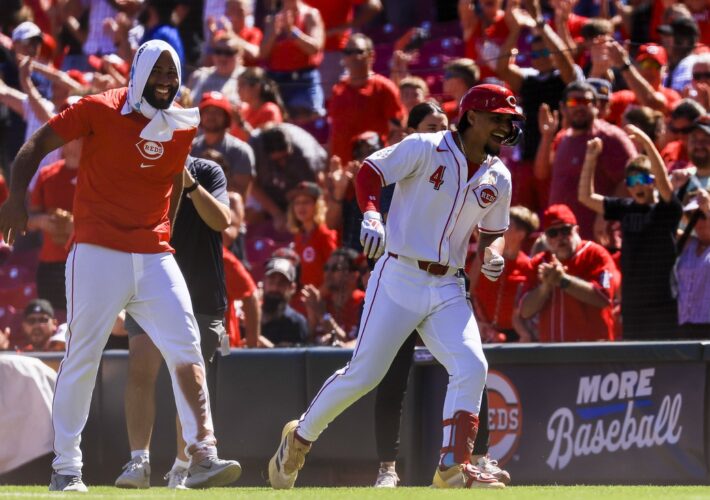
[[[304,344],[308,322],[288,305],[296,293],[296,268],[290,260],[276,257],[266,263],[261,306],[261,335],[275,347]]]

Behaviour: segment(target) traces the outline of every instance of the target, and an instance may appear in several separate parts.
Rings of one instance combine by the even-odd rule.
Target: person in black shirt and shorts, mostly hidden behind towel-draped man
[[[227,292],[222,260],[222,230],[229,226],[231,213],[227,178],[217,163],[188,156],[183,171],[184,189],[175,218],[170,245],[192,299],[200,332],[202,357],[208,388],[214,393],[215,353],[226,339],[224,313]],[[155,420],[155,380],[162,361],[160,351],[140,325],[129,315],[128,382],[126,386],[126,426],[131,461],[116,479],[119,488],[150,487],[150,436]],[[177,422],[177,458],[165,476],[168,487],[184,489],[188,458]]]

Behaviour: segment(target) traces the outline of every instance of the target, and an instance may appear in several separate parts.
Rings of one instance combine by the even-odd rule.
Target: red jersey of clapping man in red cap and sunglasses
[[[537,268],[551,259],[550,252],[542,252],[532,258],[523,294],[540,284]],[[593,241],[582,240],[574,255],[562,261],[562,265],[567,274],[591,282],[595,291],[609,301],[609,305],[600,309],[585,304],[556,287],[539,313],[539,341],[614,340],[612,297],[619,286],[619,278],[609,252]]]

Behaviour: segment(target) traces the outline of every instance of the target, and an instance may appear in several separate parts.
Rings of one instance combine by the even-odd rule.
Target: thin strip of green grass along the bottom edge
[[[432,490],[429,488],[397,488],[376,490],[374,488],[296,488],[290,491],[274,491],[268,488],[215,488],[204,491],[172,491],[166,488],[150,490],[119,490],[107,486],[90,487],[86,495],[49,493],[46,486],[0,486],[0,500],[6,498],[190,498],[190,499],[288,499],[288,500],[360,500],[402,499],[459,499],[459,498],[505,498],[515,500],[542,500],[549,498],[581,500],[616,500],[651,498],[659,500],[710,498],[708,486],[513,486],[500,491]]]

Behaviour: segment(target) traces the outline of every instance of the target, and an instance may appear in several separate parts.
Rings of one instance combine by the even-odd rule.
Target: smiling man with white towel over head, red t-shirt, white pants
[[[26,190],[39,160],[84,138],[66,267],[67,349],[52,407],[51,491],[87,491],[81,432],[101,353],[122,309],[148,333],[170,371],[192,459],[186,486],[222,486],[241,474],[239,463],[217,457],[197,324],[169,244],[169,215],[177,210],[199,123],[196,108],[173,105],[179,86],[175,51],[159,40],[146,42],[136,52],[128,88],[86,96],[53,117],[13,165],[11,194],[0,207],[0,232],[10,243],[25,230]]]

